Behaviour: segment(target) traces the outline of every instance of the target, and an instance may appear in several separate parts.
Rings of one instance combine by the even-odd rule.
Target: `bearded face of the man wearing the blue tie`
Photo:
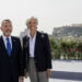
[[[12,24],[9,21],[4,21],[2,23],[1,31],[3,32],[4,36],[9,37],[11,35],[11,32],[12,32]]]

